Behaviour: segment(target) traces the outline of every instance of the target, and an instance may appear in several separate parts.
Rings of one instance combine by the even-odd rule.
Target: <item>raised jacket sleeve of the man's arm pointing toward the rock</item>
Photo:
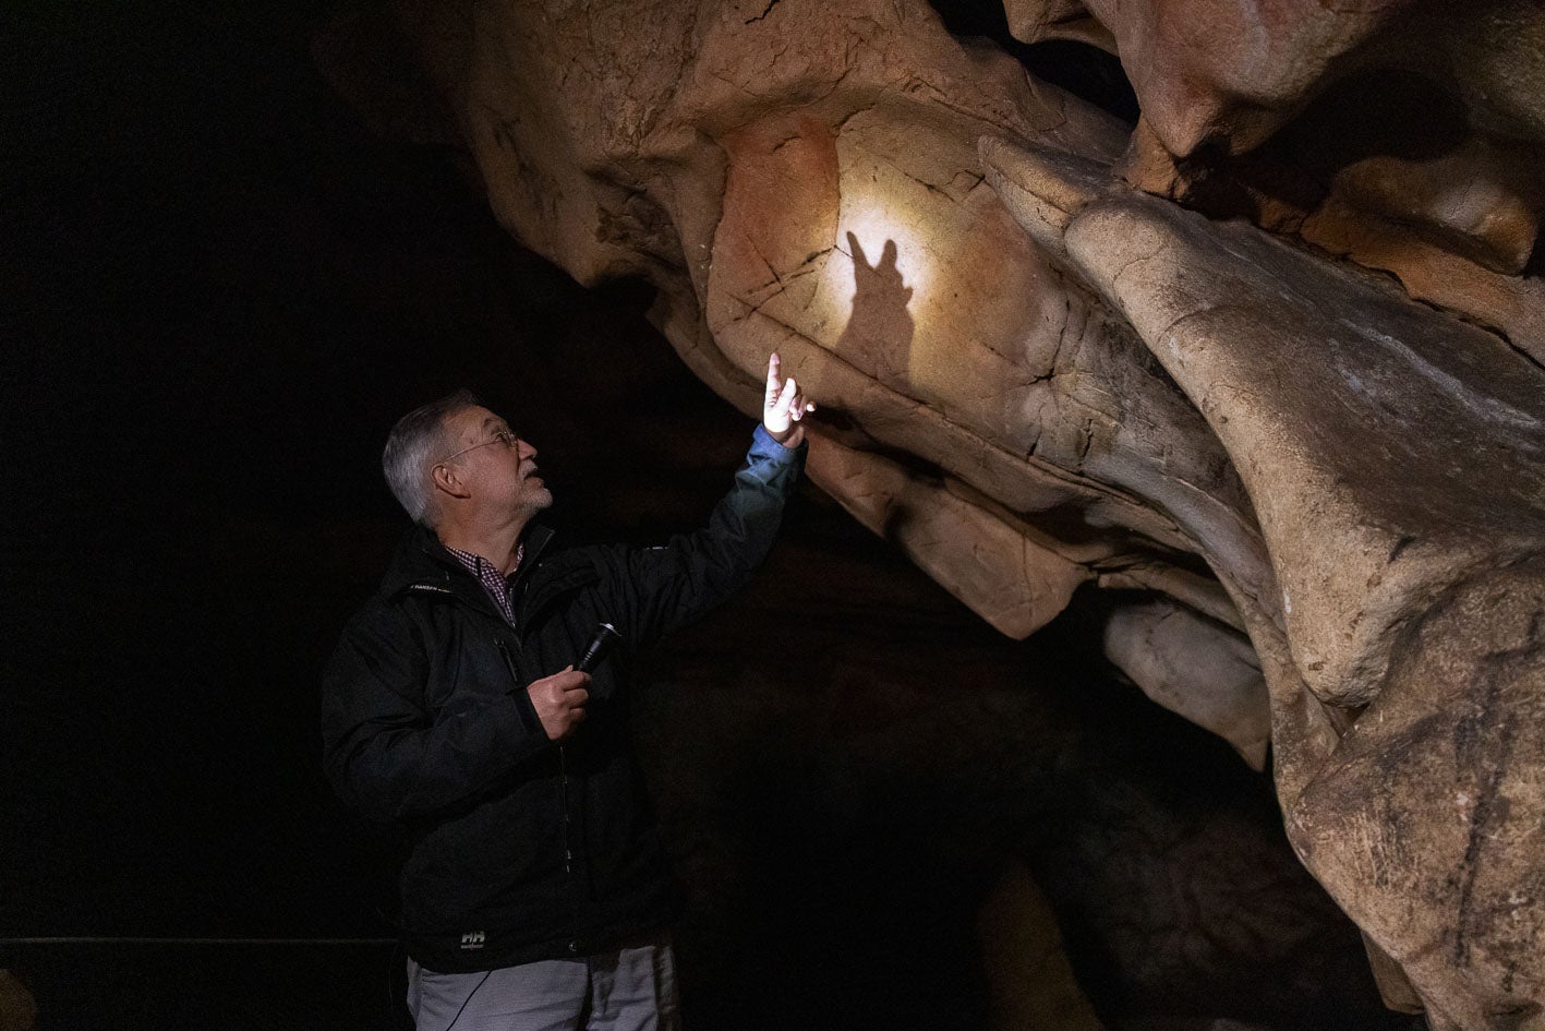
[[[762,564],[783,504],[805,467],[805,445],[785,448],[757,425],[734,485],[708,526],[663,547],[626,552],[623,592],[629,645],[641,648],[698,618],[734,594]]]

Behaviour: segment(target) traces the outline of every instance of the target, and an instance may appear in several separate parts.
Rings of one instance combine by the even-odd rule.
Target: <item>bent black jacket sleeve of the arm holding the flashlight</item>
[[[343,632],[323,679],[323,765],[338,796],[375,821],[453,805],[550,742],[524,691],[431,714],[430,663],[413,621],[375,600]]]

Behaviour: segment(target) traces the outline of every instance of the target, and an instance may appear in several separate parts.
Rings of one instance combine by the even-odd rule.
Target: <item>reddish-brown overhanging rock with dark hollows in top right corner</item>
[[[1091,22],[1111,40],[1142,105],[1125,170],[1139,189],[1258,221],[1285,207],[1295,229],[1333,195],[1406,247],[1528,267],[1545,206],[1545,9],[1531,0],[1007,9],[1026,42],[1098,42]]]

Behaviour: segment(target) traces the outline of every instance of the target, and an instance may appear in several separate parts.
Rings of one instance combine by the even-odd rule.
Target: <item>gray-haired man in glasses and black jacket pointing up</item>
[[[419,526],[323,689],[328,776],[409,832],[402,929],[419,1031],[675,1028],[672,881],[629,737],[638,649],[723,601],[772,544],[805,402],[768,362],[762,425],[708,526],[559,550],[536,448],[465,391],[382,459]],[[573,669],[601,623],[623,643]]]

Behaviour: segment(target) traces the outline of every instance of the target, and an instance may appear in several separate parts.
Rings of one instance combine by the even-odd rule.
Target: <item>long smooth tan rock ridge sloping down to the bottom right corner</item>
[[[1545,812],[1528,730],[1545,706],[1545,373],[1367,277],[1154,198],[1091,199],[1065,236],[1255,499],[1273,570],[1247,578],[1281,594],[1241,607],[1258,643],[1262,617],[1285,629],[1296,677],[1267,668],[1279,711],[1301,705],[1301,677],[1355,717],[1340,742],[1273,728],[1304,861],[1434,1026],[1533,1019],[1545,914],[1525,900],[1545,890],[1545,835],[1519,815]]]

